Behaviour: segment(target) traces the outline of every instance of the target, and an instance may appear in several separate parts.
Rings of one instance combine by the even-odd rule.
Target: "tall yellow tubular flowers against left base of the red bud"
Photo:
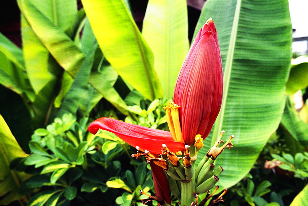
[[[176,142],[184,143],[181,125],[180,125],[179,108],[180,106],[177,104],[174,104],[173,101],[169,102],[168,105],[164,107],[164,109],[166,110],[167,123],[168,123],[169,130],[171,132],[172,138]]]

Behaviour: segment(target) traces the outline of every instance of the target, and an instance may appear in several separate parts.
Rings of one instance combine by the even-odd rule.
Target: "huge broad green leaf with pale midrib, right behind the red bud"
[[[208,0],[196,32],[210,17],[221,47],[224,95],[213,132],[198,155],[221,130],[226,131],[223,140],[234,134],[233,148],[215,162],[224,168],[218,184],[230,187],[249,172],[281,120],[292,27],[287,0]]]

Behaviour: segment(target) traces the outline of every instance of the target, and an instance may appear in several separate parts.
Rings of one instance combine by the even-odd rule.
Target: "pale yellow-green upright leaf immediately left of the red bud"
[[[188,52],[188,21],[185,0],[150,0],[142,36],[154,55],[154,69],[164,97],[172,98],[176,78]]]

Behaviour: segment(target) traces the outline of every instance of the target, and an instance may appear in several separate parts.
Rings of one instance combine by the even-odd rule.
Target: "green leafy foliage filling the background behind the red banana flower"
[[[140,189],[154,194],[134,148],[86,129],[112,117],[168,130],[162,107],[189,42],[212,17],[224,100],[199,156],[221,130],[235,135],[217,160],[220,188],[230,188],[222,204],[306,205],[308,61],[291,60],[288,1],[207,0],[201,12],[185,0],[18,0],[11,8],[21,36],[3,32],[12,22],[2,18],[0,204],[141,205]]]

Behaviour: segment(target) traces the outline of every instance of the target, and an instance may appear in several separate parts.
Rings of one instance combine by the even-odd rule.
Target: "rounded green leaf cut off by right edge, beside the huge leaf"
[[[290,76],[286,84],[286,92],[293,94],[308,86],[308,56],[300,56],[291,61]]]

